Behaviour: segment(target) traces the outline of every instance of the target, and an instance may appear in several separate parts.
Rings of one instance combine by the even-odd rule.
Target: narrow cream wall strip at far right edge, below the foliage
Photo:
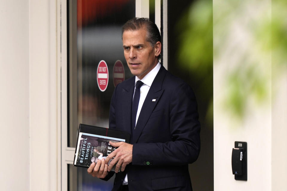
[[[287,61],[286,61],[287,62]],[[272,71],[273,72],[273,71]],[[272,76],[272,190],[286,190],[287,179],[287,71]]]

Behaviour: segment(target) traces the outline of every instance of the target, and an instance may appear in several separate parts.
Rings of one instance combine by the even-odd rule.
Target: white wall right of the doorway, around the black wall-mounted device
[[[215,191],[286,190],[287,70],[286,61],[275,63],[280,59],[270,44],[270,22],[280,11],[271,12],[274,3],[213,1]],[[233,87],[231,76],[237,80]],[[232,88],[244,96],[243,114],[237,116],[227,104]],[[234,180],[232,174],[234,141],[247,142],[247,181]]]

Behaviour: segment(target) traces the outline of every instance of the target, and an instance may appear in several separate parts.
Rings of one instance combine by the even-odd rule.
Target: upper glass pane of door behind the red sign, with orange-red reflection
[[[68,147],[75,147],[80,123],[109,126],[115,85],[132,76],[123,56],[121,27],[135,17],[135,0],[72,0],[68,9]],[[100,66],[97,75],[100,61],[107,68]]]

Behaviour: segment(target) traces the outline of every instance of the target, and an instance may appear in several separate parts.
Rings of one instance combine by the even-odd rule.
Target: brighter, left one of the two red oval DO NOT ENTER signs
[[[97,68],[97,82],[98,87],[102,92],[107,89],[109,82],[109,71],[107,63],[103,60],[100,61]]]

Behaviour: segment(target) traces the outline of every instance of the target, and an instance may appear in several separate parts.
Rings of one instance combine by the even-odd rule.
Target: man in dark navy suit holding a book
[[[116,165],[113,190],[192,190],[188,164],[200,150],[193,90],[159,63],[161,36],[154,23],[134,18],[122,32],[124,56],[135,76],[115,88],[109,128],[131,132],[131,144],[110,143],[118,148],[106,161],[91,164],[88,173],[108,180]]]

